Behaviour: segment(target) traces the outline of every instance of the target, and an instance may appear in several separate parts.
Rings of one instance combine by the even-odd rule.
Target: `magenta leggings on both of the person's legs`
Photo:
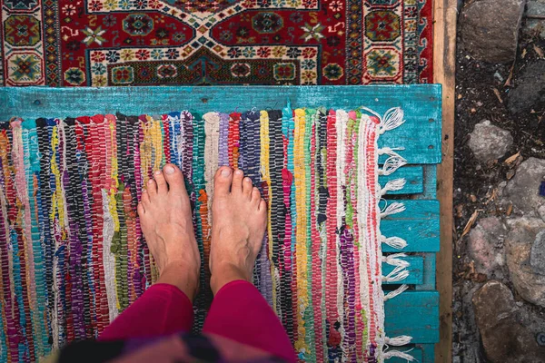
[[[189,331],[193,304],[173,285],[155,284],[104,329],[99,340],[152,338]],[[290,338],[253,284],[236,280],[220,289],[204,321],[203,333],[230,338],[295,362]]]

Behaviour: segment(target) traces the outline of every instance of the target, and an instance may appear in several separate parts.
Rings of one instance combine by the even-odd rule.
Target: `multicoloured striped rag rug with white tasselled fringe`
[[[410,338],[386,338],[384,300],[406,286],[384,296],[381,283],[406,278],[408,264],[382,256],[381,243],[406,242],[379,230],[381,218],[403,211],[381,198],[404,180],[378,178],[405,161],[377,146],[403,122],[399,108],[381,116],[286,107],[0,123],[0,360],[35,361],[96,337],[156,280],[136,205],[165,162],[186,177],[203,266],[218,166],[243,169],[260,188],[268,229],[253,280],[301,360],[404,357],[385,348]],[[382,276],[381,263],[395,268]],[[204,268],[201,279],[207,286]],[[197,329],[212,299],[202,290]]]

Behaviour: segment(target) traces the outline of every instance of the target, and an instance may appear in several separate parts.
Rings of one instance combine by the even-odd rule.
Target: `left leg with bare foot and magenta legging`
[[[167,164],[143,192],[138,214],[159,280],[110,324],[100,340],[145,338],[188,331],[201,260],[180,170]]]

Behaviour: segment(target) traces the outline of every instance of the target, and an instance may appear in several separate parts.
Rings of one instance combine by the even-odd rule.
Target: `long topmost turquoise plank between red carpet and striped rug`
[[[0,120],[66,117],[96,113],[159,114],[190,109],[196,113],[253,107],[357,108],[383,114],[401,107],[407,122],[381,136],[379,146],[403,147],[409,163],[441,162],[441,85],[368,86],[213,86],[213,87],[5,87],[0,89]]]

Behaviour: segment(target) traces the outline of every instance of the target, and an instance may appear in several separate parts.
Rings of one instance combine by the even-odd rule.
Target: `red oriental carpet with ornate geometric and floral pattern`
[[[5,0],[0,85],[432,82],[432,0]]]

